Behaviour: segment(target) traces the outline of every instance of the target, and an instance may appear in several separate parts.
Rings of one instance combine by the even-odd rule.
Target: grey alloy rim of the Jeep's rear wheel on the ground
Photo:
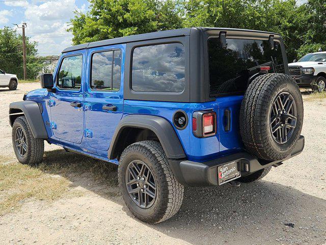
[[[140,208],[150,208],[156,199],[156,182],[152,171],[141,160],[131,161],[126,170],[126,187],[131,200]]]

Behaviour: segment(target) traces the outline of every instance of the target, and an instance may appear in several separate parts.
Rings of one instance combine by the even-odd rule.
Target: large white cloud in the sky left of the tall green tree
[[[38,53],[42,56],[59,55],[64,48],[72,44],[73,36],[66,31],[68,29],[67,22],[74,17],[75,10],[86,12],[89,6],[89,4],[84,4],[78,9],[75,0],[50,0],[47,2],[34,0],[6,2],[5,4],[24,9],[24,16],[21,19],[27,23],[26,36],[30,37],[32,41],[38,42]],[[21,32],[21,29],[18,31]]]

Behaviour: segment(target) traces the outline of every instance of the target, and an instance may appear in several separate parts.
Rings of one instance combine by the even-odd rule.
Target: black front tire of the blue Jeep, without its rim
[[[22,130],[25,136],[26,152],[23,156],[20,155],[16,147],[15,134],[18,128]],[[20,163],[34,165],[42,161],[44,153],[44,140],[34,138],[28,121],[24,116],[19,116],[14,121],[12,126],[12,144],[15,155]]]

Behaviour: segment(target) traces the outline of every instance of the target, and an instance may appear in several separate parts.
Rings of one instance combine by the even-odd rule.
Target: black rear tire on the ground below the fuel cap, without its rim
[[[130,197],[126,171],[132,161],[143,161],[152,171],[156,184],[156,198],[149,208],[141,208]],[[132,214],[143,222],[160,223],[175,215],[183,200],[184,187],[174,177],[168,159],[159,142],[146,140],[129,145],[119,161],[118,179],[122,197]]]

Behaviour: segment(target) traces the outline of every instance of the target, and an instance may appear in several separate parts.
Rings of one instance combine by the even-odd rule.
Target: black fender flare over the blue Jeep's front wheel
[[[41,108],[37,102],[19,101],[10,103],[9,120],[11,127],[13,126],[15,119],[20,115],[24,115],[26,117],[34,138],[48,138],[43,117],[41,114]]]

